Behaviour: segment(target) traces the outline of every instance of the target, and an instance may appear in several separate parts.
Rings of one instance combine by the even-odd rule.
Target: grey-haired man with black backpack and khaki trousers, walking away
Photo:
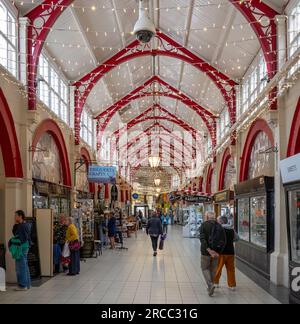
[[[215,292],[215,276],[218,268],[219,255],[226,245],[224,228],[217,222],[214,212],[205,214],[206,221],[200,227],[201,269],[207,284],[210,297]]]

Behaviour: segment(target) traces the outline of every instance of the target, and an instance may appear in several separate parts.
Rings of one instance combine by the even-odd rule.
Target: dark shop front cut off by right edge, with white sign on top
[[[290,300],[300,304],[300,154],[281,161],[280,168],[287,204]]]

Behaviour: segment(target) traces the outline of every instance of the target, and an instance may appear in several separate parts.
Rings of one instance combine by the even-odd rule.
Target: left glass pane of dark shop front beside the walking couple
[[[238,200],[238,233],[241,240],[250,241],[249,198]]]

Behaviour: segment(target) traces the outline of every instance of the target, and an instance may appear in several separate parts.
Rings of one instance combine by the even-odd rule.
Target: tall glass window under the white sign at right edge
[[[300,189],[289,192],[290,244],[292,261],[300,263]]]

